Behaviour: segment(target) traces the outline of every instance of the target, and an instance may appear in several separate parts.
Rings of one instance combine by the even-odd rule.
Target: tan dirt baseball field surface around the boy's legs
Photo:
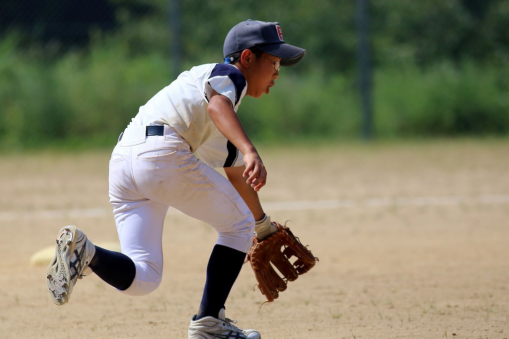
[[[509,337],[508,140],[261,150],[260,196],[320,262],[273,303],[244,266],[227,302],[264,339]],[[76,224],[117,241],[108,152],[1,156],[0,338],[186,338],[215,242],[168,213],[158,290],[128,297],[97,276],[55,306],[30,265]],[[225,267],[228,269],[228,267]]]

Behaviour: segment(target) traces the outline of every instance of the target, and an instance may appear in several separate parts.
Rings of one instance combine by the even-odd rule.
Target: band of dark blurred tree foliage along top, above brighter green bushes
[[[278,20],[288,42],[308,50],[308,68],[320,64],[330,73],[356,67],[354,0],[6,1],[0,3],[0,33],[17,31],[27,43],[56,44],[66,51],[102,32],[124,39],[135,54],[168,53],[175,45],[168,22],[172,2],[179,4],[182,57],[190,64],[221,59],[228,30],[253,18]],[[506,62],[509,54],[506,0],[372,1],[370,16],[376,65]]]

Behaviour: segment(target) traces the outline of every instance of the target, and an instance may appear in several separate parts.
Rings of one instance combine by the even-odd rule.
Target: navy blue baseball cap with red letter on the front
[[[236,24],[228,32],[224,39],[223,54],[226,58],[251,47],[281,58],[281,66],[297,64],[306,53],[305,49],[287,44],[283,40],[278,22],[249,19]]]

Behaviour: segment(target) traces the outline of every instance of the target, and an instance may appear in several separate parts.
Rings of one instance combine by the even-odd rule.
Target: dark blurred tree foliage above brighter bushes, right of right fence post
[[[419,65],[469,59],[506,62],[509,2],[411,0],[373,2],[378,63],[411,58]]]

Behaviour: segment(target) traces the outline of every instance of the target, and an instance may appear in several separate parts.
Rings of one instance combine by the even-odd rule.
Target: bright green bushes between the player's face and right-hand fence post
[[[249,135],[262,140],[357,137],[360,112],[352,81],[282,69],[275,82],[268,96],[246,98],[241,105],[239,116]]]

